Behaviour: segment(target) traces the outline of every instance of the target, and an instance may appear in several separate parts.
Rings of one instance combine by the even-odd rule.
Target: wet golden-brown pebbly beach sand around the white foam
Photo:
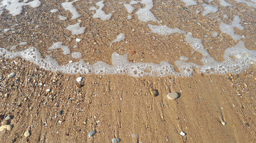
[[[113,13],[109,21],[92,18],[93,13],[89,8],[95,7],[94,2],[80,2],[76,8],[83,17],[76,20],[71,20],[72,15],[68,11],[57,7],[60,5],[57,1],[42,3],[45,5],[37,8],[40,13],[28,6],[23,7],[22,15],[16,17],[3,12],[0,21],[5,20],[5,23],[0,24],[0,28],[8,28],[19,20],[15,27],[20,30],[2,33],[0,47],[10,49],[12,45],[26,41],[27,45],[19,45],[14,51],[35,46],[46,56],[52,43],[61,41],[70,48],[77,45],[78,48],[71,48],[71,52],[81,52],[83,59],[90,64],[97,61],[111,64],[113,52],[126,54],[130,51],[136,52],[128,56],[135,63],[174,62],[185,55],[192,62],[201,64],[198,60],[192,60],[192,48],[180,41],[184,38],[182,34],[154,34],[147,23],[138,18],[127,20],[125,11],[115,9],[120,6],[117,2],[113,5],[106,3],[107,8],[103,8],[107,14],[113,10],[118,13]],[[203,3],[200,1],[200,4]],[[205,18],[201,13],[195,16],[192,14],[196,10],[194,6],[185,8],[184,4],[180,4],[174,1],[161,5],[161,1],[155,1],[154,7],[159,7],[159,11],[153,9],[152,13],[167,26],[176,27],[182,23],[182,30],[190,30],[195,33],[195,38],[208,41],[203,42],[207,51],[215,60],[222,61],[225,49],[237,41],[216,31],[220,23],[216,17]],[[143,5],[135,8],[139,7]],[[243,10],[245,8],[247,10]],[[61,12],[50,13],[53,9]],[[172,10],[168,14],[174,18],[161,15],[161,11],[167,10]],[[255,23],[255,15],[252,14],[255,10],[246,4],[231,10],[222,7],[219,11],[230,16],[242,15],[243,23]],[[59,20],[59,15],[68,17],[68,22]],[[132,14],[132,17],[137,15]],[[233,21],[233,17],[222,19],[228,24]],[[74,36],[64,30],[78,22],[81,27],[86,27],[83,35]],[[37,25],[39,27],[35,28]],[[236,33],[246,37],[243,39],[246,48],[255,50],[255,26],[243,26],[246,32],[236,29]],[[200,32],[197,32],[198,29]],[[217,38],[204,37],[214,32],[219,33]],[[125,40],[112,43],[120,33],[125,33]],[[76,38],[82,41],[77,43]],[[215,46],[210,49],[212,45]],[[60,64],[67,64],[70,60],[79,61],[71,55],[63,58],[60,51],[53,51]],[[193,57],[200,59],[202,55],[195,52]],[[241,74],[140,78],[122,74],[63,74],[41,69],[22,58],[2,58],[0,67],[0,122],[1,125],[13,125],[12,130],[0,132],[1,142],[112,142],[113,138],[120,138],[121,142],[143,143],[254,142],[256,139],[255,67]],[[16,77],[7,77],[11,72],[16,72]],[[77,77],[84,77],[80,88]],[[159,95],[153,97],[151,88],[158,90]],[[50,92],[46,92],[47,89]],[[180,97],[168,100],[169,92],[178,92]],[[8,115],[11,119],[5,121]],[[25,137],[27,130],[30,136]],[[89,138],[88,133],[92,130],[97,133]],[[184,132],[185,136],[180,132]]]

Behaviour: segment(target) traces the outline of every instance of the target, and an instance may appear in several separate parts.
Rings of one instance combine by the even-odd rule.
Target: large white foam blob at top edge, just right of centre
[[[146,5],[144,8],[140,8],[136,14],[138,15],[138,19],[143,21],[143,22],[148,22],[148,21],[156,21],[157,18],[151,13],[151,8],[153,8],[153,1],[152,0],[142,0],[140,2],[141,4]]]

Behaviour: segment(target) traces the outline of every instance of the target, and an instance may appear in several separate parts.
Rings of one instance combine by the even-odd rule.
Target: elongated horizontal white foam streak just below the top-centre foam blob
[[[158,33],[159,35],[164,35],[164,36],[168,36],[168,35],[171,35],[173,33],[185,33],[183,30],[180,30],[178,28],[171,29],[170,27],[167,27],[166,25],[164,25],[164,26],[154,26],[154,25],[151,25],[151,24],[147,24],[147,26],[150,27],[150,29],[153,33]]]

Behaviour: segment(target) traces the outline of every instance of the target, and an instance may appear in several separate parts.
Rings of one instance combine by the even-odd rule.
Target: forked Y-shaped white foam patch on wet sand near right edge
[[[230,35],[235,41],[238,41],[242,38],[242,36],[236,35],[234,33],[234,27],[237,27],[238,29],[243,30],[244,27],[241,26],[240,22],[241,22],[241,20],[240,20],[239,16],[235,16],[231,25],[221,23],[219,25],[219,28],[221,29],[221,32],[227,33],[227,35]]]

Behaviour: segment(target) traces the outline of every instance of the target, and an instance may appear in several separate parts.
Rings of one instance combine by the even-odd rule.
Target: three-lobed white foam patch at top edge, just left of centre
[[[101,18],[101,20],[109,20],[112,17],[112,14],[106,14],[102,8],[104,7],[103,4],[104,1],[97,2],[96,5],[98,5],[98,9],[95,7],[90,8],[89,10],[96,10],[96,13],[92,16],[94,18]]]

